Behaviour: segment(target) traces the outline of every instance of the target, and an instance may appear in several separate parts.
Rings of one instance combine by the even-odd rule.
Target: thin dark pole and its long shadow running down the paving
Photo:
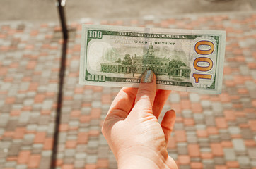
[[[58,153],[58,141],[59,141],[59,124],[62,115],[62,90],[64,84],[64,76],[65,76],[65,69],[66,69],[66,49],[67,49],[67,42],[68,42],[68,30],[66,27],[66,18],[64,13],[64,6],[66,0],[57,0],[56,5],[59,9],[59,20],[62,24],[62,34],[63,34],[63,44],[62,44],[62,59],[60,63],[60,71],[59,71],[59,92],[57,97],[57,108],[56,108],[56,117],[55,117],[55,126],[54,126],[54,139],[52,145],[52,157],[50,168],[55,169],[57,165],[57,153]]]

